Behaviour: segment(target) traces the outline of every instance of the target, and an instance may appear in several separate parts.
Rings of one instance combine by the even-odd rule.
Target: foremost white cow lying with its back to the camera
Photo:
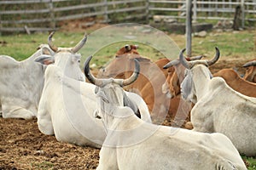
[[[138,65],[138,63],[137,63]],[[97,79],[101,118],[107,131],[100,162],[102,169],[247,169],[230,139],[221,133],[198,133],[143,122],[122,103],[120,79]]]

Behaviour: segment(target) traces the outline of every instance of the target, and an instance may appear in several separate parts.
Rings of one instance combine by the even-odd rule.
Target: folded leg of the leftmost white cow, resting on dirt
[[[32,119],[35,116],[32,111],[28,111],[20,106],[2,104],[2,109],[3,118]]]

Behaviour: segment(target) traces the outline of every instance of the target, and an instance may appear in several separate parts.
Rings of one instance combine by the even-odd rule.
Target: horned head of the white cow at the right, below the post
[[[194,104],[197,102],[197,94],[196,94],[196,89],[195,89],[195,85],[194,85],[195,82],[193,80],[194,74],[195,75],[204,75],[207,79],[212,78],[211,71],[209,71],[209,69],[206,66],[213,65],[214,63],[216,63],[218,61],[220,54],[219,54],[218,48],[215,48],[215,49],[216,49],[215,57],[211,60],[203,59],[203,60],[188,61],[183,56],[183,52],[185,51],[185,49],[183,49],[180,52],[179,60],[180,60],[181,64],[186,68],[186,71],[184,74],[184,79],[183,79],[183,82],[181,83],[181,94],[182,94],[183,99],[191,101]],[[202,69],[198,69],[198,70],[196,70],[197,71],[196,72],[193,70],[195,65],[204,65],[204,67],[199,67]],[[203,78],[203,77],[201,77],[201,78]]]

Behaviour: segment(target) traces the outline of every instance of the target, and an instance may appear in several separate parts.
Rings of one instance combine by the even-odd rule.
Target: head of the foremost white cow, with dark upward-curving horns
[[[125,91],[122,88],[136,81],[140,71],[140,66],[137,60],[135,59],[135,71],[131,77],[127,79],[99,79],[90,73],[89,64],[91,58],[92,57],[90,56],[85,61],[84,74],[91,83],[96,85],[95,93],[99,99],[98,104],[100,104],[101,109],[111,112],[113,105],[128,106],[135,112],[137,116],[140,117],[137,106],[126,96]],[[96,117],[102,117],[102,115],[96,115]]]

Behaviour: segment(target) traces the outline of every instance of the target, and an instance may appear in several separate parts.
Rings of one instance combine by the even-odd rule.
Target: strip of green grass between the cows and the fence
[[[256,31],[239,31],[233,32],[210,32],[207,37],[193,37],[192,39],[192,55],[204,54],[209,57],[214,54],[214,47],[220,49],[222,57],[242,57],[253,59],[256,56],[255,51],[255,33]],[[61,32],[57,31],[54,36],[54,43],[59,47],[73,47],[83,37],[84,32]],[[38,45],[47,43],[48,33],[36,33],[32,35],[16,34],[12,36],[0,37],[0,54],[12,56],[17,60],[26,59],[32,55]],[[174,42],[179,48],[185,48],[185,37],[183,35],[171,35]],[[148,41],[154,41],[148,39]],[[6,44],[3,42],[7,42]],[[90,40],[88,43],[94,43]],[[96,56],[97,65],[103,65],[111,59],[117,50],[126,43],[138,44],[138,52],[143,56],[151,59],[159,59],[163,55],[156,49],[149,47],[141,42],[113,42],[106,47],[101,48],[94,56]],[[85,44],[85,46],[90,46]],[[86,50],[90,50],[85,48]],[[84,49],[84,50],[85,50]],[[81,52],[83,54],[83,50]],[[84,56],[87,57],[87,56]]]

